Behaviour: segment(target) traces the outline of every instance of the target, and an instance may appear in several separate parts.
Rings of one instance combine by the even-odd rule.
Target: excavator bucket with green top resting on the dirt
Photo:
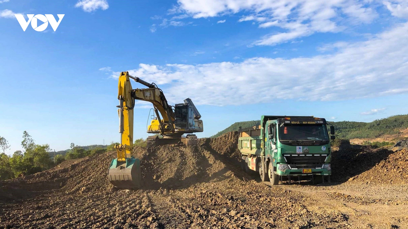
[[[113,159],[109,166],[108,180],[120,189],[140,188],[142,181],[140,160],[133,156],[126,158],[124,162]]]

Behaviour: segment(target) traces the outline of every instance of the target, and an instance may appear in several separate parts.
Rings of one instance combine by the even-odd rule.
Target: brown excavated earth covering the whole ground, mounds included
[[[0,228],[408,228],[408,152],[333,152],[332,183],[271,186],[239,163],[237,132],[135,148],[142,188],[106,179],[108,152],[0,181]]]

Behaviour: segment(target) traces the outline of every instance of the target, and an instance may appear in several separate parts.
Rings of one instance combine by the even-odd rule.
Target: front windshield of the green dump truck
[[[325,125],[284,125],[279,127],[280,140],[329,141]]]

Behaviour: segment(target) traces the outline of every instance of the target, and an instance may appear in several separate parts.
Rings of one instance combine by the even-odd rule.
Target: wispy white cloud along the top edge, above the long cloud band
[[[398,0],[406,1],[406,0]],[[313,33],[337,33],[344,22],[370,23],[377,17],[371,0],[178,0],[170,13],[192,18],[217,17],[244,13],[238,22],[254,21],[259,28],[271,26],[284,32],[264,36],[254,45],[276,45]]]

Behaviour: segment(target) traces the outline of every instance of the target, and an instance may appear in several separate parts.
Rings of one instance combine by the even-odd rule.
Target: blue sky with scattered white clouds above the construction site
[[[23,31],[14,14],[64,18]],[[126,70],[171,104],[191,97],[199,137],[262,114],[407,114],[407,18],[406,0],[0,0],[0,136],[9,154],[24,130],[55,150],[118,141]]]

